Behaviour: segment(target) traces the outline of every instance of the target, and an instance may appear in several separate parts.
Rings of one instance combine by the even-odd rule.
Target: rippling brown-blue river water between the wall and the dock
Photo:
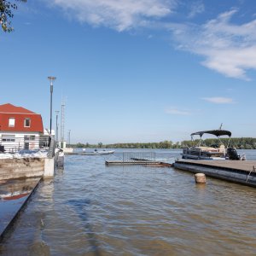
[[[167,167],[105,166],[108,156],[67,155],[40,183],[3,255],[255,255],[256,189]],[[155,150],[172,162],[177,150]],[[255,150],[245,150],[256,159]]]

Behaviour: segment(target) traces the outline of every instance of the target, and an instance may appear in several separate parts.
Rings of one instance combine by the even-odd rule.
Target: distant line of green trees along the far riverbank
[[[229,143],[230,141],[230,143]],[[196,146],[199,140],[195,141],[182,141],[172,143],[172,141],[164,141],[160,143],[114,143],[114,144],[90,144],[90,143],[77,143],[68,145],[72,148],[184,148]],[[253,137],[241,137],[241,138],[222,138],[221,141],[217,138],[208,138],[201,141],[201,146],[206,147],[219,147],[220,143],[224,143],[227,147],[228,143],[230,147],[237,149],[256,149],[256,138]]]

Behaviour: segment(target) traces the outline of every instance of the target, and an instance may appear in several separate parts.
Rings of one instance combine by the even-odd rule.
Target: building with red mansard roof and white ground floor
[[[43,136],[40,114],[9,103],[0,105],[0,143],[6,151],[41,148]]]

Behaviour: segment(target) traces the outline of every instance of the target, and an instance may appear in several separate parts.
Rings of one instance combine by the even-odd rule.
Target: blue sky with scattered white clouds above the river
[[[253,0],[27,0],[12,25],[0,32],[1,104],[49,127],[55,76],[72,143],[177,142],[221,123],[255,137]]]

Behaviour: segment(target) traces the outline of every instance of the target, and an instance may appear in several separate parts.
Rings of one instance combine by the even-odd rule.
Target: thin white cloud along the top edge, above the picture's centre
[[[169,15],[177,0],[53,0],[67,15],[93,26],[125,31]]]

